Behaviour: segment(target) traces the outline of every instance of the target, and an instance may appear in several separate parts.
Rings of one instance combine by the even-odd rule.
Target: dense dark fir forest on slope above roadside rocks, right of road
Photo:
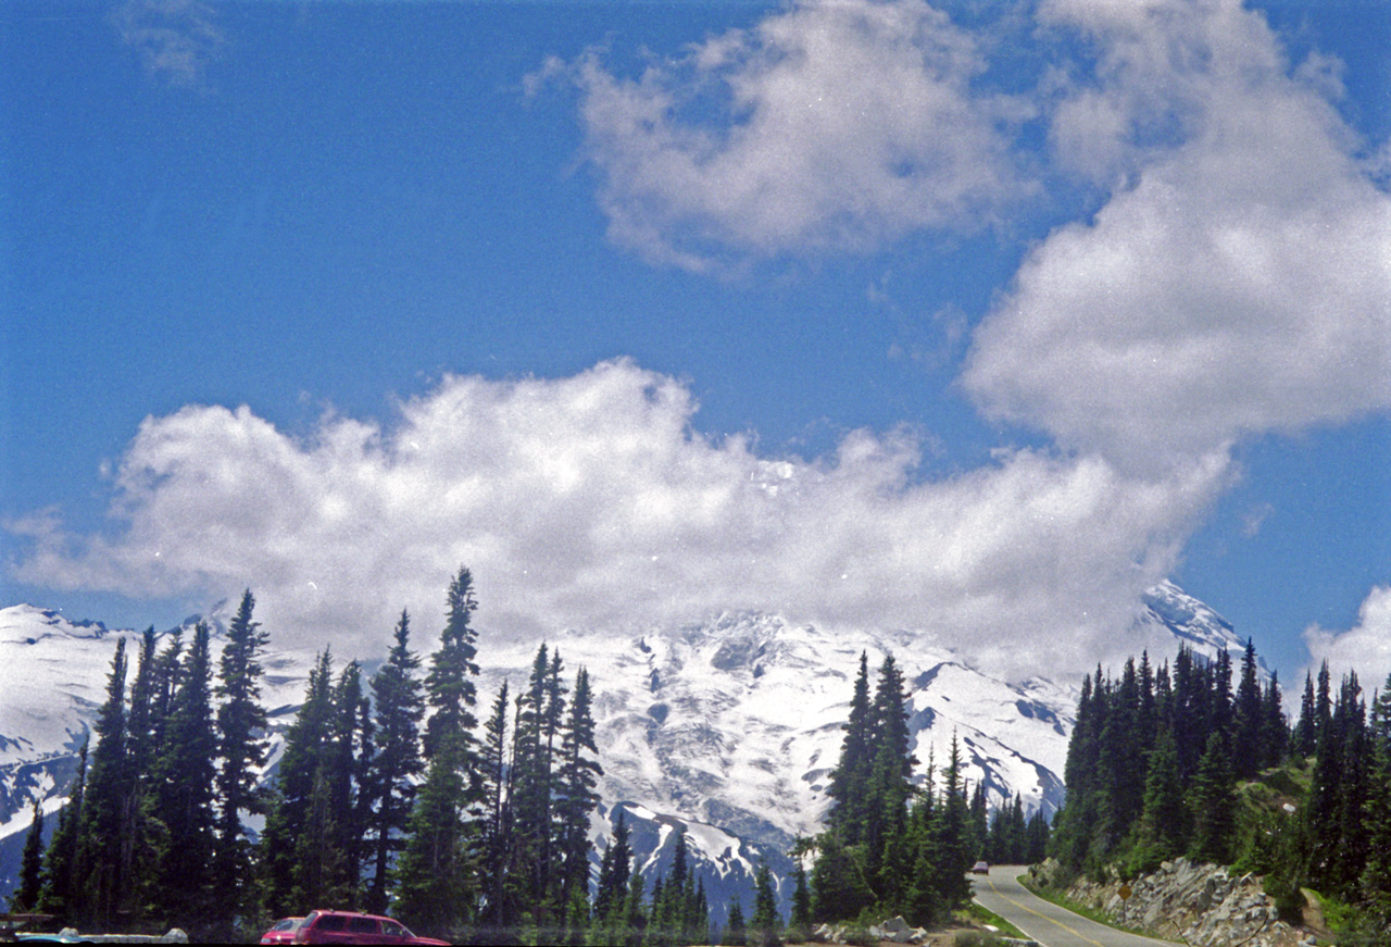
[[[1264,877],[1283,919],[1303,890],[1340,918],[1338,943],[1391,947],[1391,678],[1370,701],[1355,673],[1306,675],[1291,727],[1276,674],[1248,642],[1148,656],[1082,682],[1067,802],[1050,852],[1064,876],[1132,877],[1181,855]]]

